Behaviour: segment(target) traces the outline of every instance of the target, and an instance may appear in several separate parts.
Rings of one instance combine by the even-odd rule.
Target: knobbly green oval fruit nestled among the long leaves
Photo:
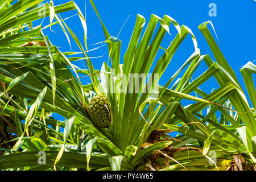
[[[105,96],[93,97],[88,105],[90,119],[97,127],[109,127],[110,113],[108,99]]]

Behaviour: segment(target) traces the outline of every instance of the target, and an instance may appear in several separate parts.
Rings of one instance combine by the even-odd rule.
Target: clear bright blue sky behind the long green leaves
[[[55,5],[60,5],[66,0],[54,0]],[[85,1],[75,0],[75,3],[80,7],[82,13],[85,13]],[[191,28],[193,34],[195,34],[198,47],[201,49],[201,54],[209,54],[212,59],[214,57],[210,48],[204,39],[203,35],[199,31],[198,26],[208,20],[212,21],[213,26],[216,30],[218,39],[220,40],[220,48],[224,54],[226,60],[230,66],[236,72],[238,80],[241,82],[243,88],[245,88],[242,80],[242,75],[240,73],[240,68],[242,65],[246,64],[248,61],[256,60],[256,2],[254,0],[246,1],[99,1],[94,0],[94,3],[101,15],[101,18],[108,29],[111,36],[117,36],[120,28],[125,22],[126,18],[130,15],[125,26],[123,27],[121,34],[118,38],[122,40],[122,49],[121,49],[121,61],[123,55],[125,54],[126,48],[130,41],[130,36],[133,32],[133,27],[135,24],[137,14],[141,14],[146,19],[148,23],[151,14],[155,14],[163,18],[163,15],[169,15],[174,18],[180,26],[184,24],[185,26]],[[217,6],[217,16],[210,17],[208,12],[210,10],[209,4],[215,3]],[[77,14],[77,11],[69,11],[67,13],[62,13],[62,18],[67,18],[68,16]],[[40,20],[41,21],[41,20]],[[36,23],[40,23],[36,22]],[[49,23],[49,18],[46,18],[43,22],[43,25]],[[81,40],[81,43],[84,44],[84,31],[79,20],[79,16],[74,16],[68,20],[65,20],[65,23],[72,29],[77,37]],[[96,13],[92,9],[89,1],[86,1],[86,24],[88,26],[88,48],[93,49],[99,44],[92,45],[98,42],[105,40],[104,33],[101,28],[100,20],[98,20]],[[36,25],[36,24],[35,24]],[[144,26],[146,28],[146,26]],[[145,29],[144,28],[144,29]],[[212,29],[209,28],[211,31]],[[44,34],[48,35],[52,44],[60,47],[60,50],[71,51],[67,38],[61,28],[58,25],[52,26],[52,30],[56,33],[49,30],[44,30]],[[174,39],[176,35],[176,30],[174,26],[170,26],[170,32],[172,35],[166,35],[164,37],[162,47],[167,48],[170,41]],[[213,32],[213,31],[212,31]],[[143,35],[143,32],[142,32]],[[70,36],[71,38],[71,36]],[[72,39],[72,38],[71,38]],[[80,51],[76,46],[76,43],[72,40],[72,51]],[[163,77],[160,80],[160,84],[164,85],[172,76],[174,72],[184,63],[185,60],[193,53],[194,48],[192,44],[191,36],[183,41],[177,52],[175,53],[170,65],[166,69]],[[162,55],[164,51],[157,55],[156,60],[159,56]],[[96,69],[101,68],[103,61],[108,61],[108,49],[107,46],[104,46],[97,51],[93,51],[89,54],[90,57],[102,56],[98,59],[92,59],[92,63]],[[82,56],[82,55],[81,55]],[[81,62],[77,61],[75,63],[80,68],[84,68]],[[202,63],[192,78],[196,78],[201,75],[204,71],[207,70],[207,66]],[[254,80],[255,76],[254,76]],[[82,80],[84,84],[88,82],[87,78]],[[210,93],[213,88],[218,88],[214,78],[210,78],[205,84],[200,86],[201,89],[206,90]],[[246,96],[247,92],[246,92]]]

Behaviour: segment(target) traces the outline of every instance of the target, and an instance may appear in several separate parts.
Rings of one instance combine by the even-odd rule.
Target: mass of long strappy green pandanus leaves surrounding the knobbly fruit
[[[21,2],[26,6],[21,6]],[[79,7],[72,1],[55,7],[52,1],[44,5],[51,25],[59,23],[68,42],[70,34],[81,51],[63,53],[51,44],[41,26],[32,27],[32,21],[42,18],[38,15],[42,10],[37,7],[40,2],[7,5],[0,1],[0,111],[2,117],[10,118],[18,135],[14,148],[6,149],[5,155],[0,156],[0,169],[225,170],[234,154],[242,154],[255,163],[255,108],[250,107],[207,22],[199,29],[216,62],[209,55],[201,55],[191,29],[179,26],[168,15],[160,18],[154,14],[147,27],[144,17],[137,15],[129,46],[121,56],[121,40],[111,36],[90,0],[104,30],[106,40],[102,43],[108,44],[110,59],[110,63],[102,64],[101,70],[95,70],[86,43],[85,18]],[[10,9],[13,13],[3,16]],[[77,10],[79,14],[84,46],[59,15],[68,10]],[[53,18],[56,22],[52,23]],[[164,35],[172,24],[177,34],[167,48],[162,48]],[[24,31],[24,26],[30,30]],[[189,34],[195,51],[165,85],[158,85]],[[162,49],[164,53],[157,57]],[[77,53],[83,56],[72,57]],[[85,60],[87,69],[77,67],[75,60]],[[195,77],[201,63],[207,64],[208,69]],[[250,62],[241,69],[253,107],[256,93],[251,74],[255,72],[255,65]],[[83,85],[78,73],[90,77],[92,82]],[[199,87],[210,77],[216,78],[220,88],[207,94]],[[196,97],[192,92],[196,92]],[[113,123],[108,129],[95,126],[88,115],[89,101],[95,95],[108,98]],[[183,100],[194,104],[183,106]],[[221,119],[217,118],[217,110]],[[51,113],[62,115],[65,121],[50,118]],[[172,131],[179,135],[171,138],[165,134]],[[156,142],[150,138],[154,133],[162,134],[154,138]],[[24,151],[19,152],[21,146]],[[16,153],[10,154],[11,149]],[[172,155],[163,153],[166,150]],[[38,163],[39,151],[46,152],[43,167]],[[212,152],[216,160],[210,158]],[[153,154],[161,157],[152,159]]]

